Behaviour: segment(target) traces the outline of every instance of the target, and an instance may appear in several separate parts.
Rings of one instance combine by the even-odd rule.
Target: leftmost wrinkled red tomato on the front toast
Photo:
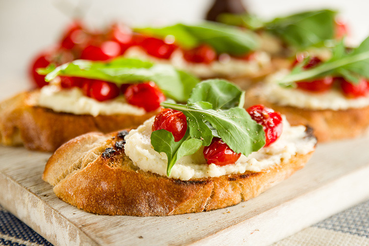
[[[155,116],[153,131],[164,129],[173,134],[174,141],[180,141],[187,131],[187,120],[184,113],[170,108],[162,108]]]

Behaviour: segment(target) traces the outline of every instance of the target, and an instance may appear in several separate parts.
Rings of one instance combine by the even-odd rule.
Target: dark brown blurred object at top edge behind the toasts
[[[241,0],[215,0],[206,15],[206,20],[216,22],[220,14],[243,14],[246,12]]]

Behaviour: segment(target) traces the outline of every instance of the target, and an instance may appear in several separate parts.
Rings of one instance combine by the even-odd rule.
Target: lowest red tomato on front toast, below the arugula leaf
[[[220,138],[213,138],[211,144],[204,148],[204,157],[207,163],[215,164],[217,166],[224,166],[235,163],[240,153],[236,153]]]

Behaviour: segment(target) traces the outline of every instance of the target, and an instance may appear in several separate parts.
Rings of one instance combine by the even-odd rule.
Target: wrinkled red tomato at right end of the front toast
[[[265,146],[274,143],[282,134],[282,117],[279,112],[258,104],[246,110],[251,118],[263,126],[265,132]]]

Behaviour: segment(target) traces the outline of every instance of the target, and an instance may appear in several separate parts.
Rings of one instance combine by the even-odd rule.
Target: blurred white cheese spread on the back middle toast
[[[221,54],[218,61],[213,61],[210,64],[187,62],[183,57],[183,52],[179,49],[172,53],[169,60],[158,59],[148,55],[144,49],[135,46],[127,49],[124,55],[126,57],[151,60],[156,63],[168,63],[200,77],[252,75],[259,73],[260,70],[270,65],[270,56],[264,51],[256,52],[254,58],[249,61]]]

